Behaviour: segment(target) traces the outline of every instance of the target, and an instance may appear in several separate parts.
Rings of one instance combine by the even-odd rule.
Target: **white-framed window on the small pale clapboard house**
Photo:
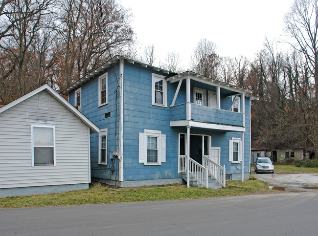
[[[32,166],[55,166],[55,127],[31,127]]]

